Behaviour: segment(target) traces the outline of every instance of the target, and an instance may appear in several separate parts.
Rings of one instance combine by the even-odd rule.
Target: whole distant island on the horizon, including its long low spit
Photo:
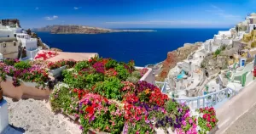
[[[32,31],[47,31],[52,34],[101,34],[111,32],[150,32],[153,30],[112,30],[83,25],[47,25],[42,28],[34,28]]]

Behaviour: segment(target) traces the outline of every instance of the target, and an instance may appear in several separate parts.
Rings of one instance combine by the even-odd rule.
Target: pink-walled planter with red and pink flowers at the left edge
[[[54,81],[44,64],[5,59],[0,63],[3,95],[9,98],[49,98],[49,82]]]

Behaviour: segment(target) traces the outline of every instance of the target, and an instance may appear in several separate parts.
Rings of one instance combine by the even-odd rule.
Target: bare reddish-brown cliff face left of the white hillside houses
[[[184,47],[179,47],[177,50],[167,53],[167,59],[163,62],[162,70],[156,80],[164,81],[169,73],[169,70],[174,68],[178,62],[187,59],[189,54],[197,50],[198,47],[200,47],[200,45],[197,43],[195,43],[195,45],[184,45]]]

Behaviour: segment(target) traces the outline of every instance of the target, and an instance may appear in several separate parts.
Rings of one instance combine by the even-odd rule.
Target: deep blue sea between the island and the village
[[[99,53],[103,58],[119,61],[134,59],[136,65],[156,64],[166,59],[169,51],[184,43],[205,42],[227,29],[151,29],[154,32],[117,32],[108,34],[50,34],[37,32],[49,47],[64,52]]]

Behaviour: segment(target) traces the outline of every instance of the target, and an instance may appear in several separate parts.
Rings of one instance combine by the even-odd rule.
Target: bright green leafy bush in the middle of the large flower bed
[[[124,87],[121,81],[116,78],[112,77],[103,82],[97,82],[96,88],[93,92],[96,92],[106,98],[114,98],[121,100],[121,92],[120,90]]]

